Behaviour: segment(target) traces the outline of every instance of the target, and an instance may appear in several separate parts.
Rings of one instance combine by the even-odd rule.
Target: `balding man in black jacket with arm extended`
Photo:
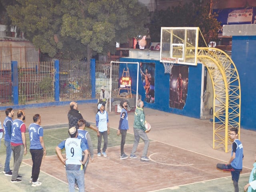
[[[78,129],[77,122],[80,119],[83,119],[83,116],[80,113],[80,111],[78,111],[78,104],[74,101],[70,102],[70,110],[68,112],[68,126],[69,126],[69,128],[76,127],[76,129]],[[86,121],[85,126],[90,127],[90,123],[88,123]]]

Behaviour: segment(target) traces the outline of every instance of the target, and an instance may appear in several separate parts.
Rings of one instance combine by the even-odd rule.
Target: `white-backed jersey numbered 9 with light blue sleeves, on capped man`
[[[66,164],[81,165],[82,151],[87,150],[86,145],[81,139],[67,138],[58,144],[60,149],[65,147],[66,150]]]

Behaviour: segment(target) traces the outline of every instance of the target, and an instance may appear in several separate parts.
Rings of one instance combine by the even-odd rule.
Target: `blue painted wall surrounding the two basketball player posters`
[[[200,118],[200,95],[201,95],[201,78],[202,64],[189,66],[188,68],[188,96],[183,110],[169,107],[169,88],[170,75],[164,74],[164,65],[159,60],[143,60],[132,58],[120,58],[121,62],[144,62],[155,63],[155,102],[144,102],[144,106],[174,114],[180,114],[193,118]],[[122,75],[126,63],[120,64],[119,76]],[[132,77],[132,90],[136,93],[137,64],[128,64],[130,76]],[[138,93],[145,99],[145,90],[142,85],[141,75],[139,73]]]

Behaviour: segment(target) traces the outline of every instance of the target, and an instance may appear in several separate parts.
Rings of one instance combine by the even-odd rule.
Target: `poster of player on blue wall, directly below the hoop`
[[[170,75],[170,107],[183,109],[187,94],[188,66],[173,66]]]

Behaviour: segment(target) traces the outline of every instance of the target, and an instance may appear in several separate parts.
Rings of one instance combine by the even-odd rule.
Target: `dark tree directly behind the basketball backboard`
[[[200,0],[193,0],[182,6],[156,11],[151,16],[148,26],[152,42],[160,42],[161,27],[199,27],[206,43],[218,39],[220,22],[216,19],[216,13],[210,14],[210,3],[203,6]],[[206,46],[199,39],[199,46]]]

